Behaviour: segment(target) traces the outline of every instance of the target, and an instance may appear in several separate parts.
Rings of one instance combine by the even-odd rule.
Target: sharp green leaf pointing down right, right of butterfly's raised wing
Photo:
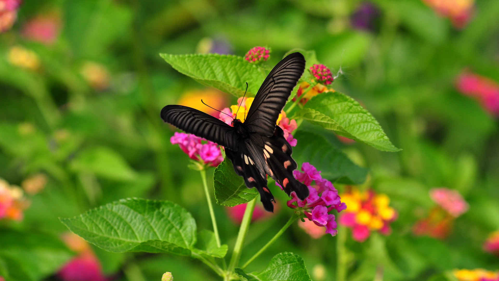
[[[353,98],[340,92],[316,95],[298,111],[297,116],[379,150],[401,150],[392,144],[369,111]]]

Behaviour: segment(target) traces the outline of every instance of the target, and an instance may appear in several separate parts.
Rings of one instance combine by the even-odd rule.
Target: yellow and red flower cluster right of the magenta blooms
[[[348,186],[347,192],[341,194],[343,202],[348,205],[348,211],[340,216],[340,224],[352,228],[354,240],[363,242],[371,235],[371,231],[378,231],[383,235],[392,232],[390,223],[398,216],[391,207],[390,198],[384,193],[376,193],[369,189],[360,191]]]

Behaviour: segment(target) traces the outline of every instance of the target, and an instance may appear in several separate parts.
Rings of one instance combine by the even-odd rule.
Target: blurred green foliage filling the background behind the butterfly
[[[201,178],[187,168],[187,155],[169,141],[174,130],[159,117],[164,105],[205,86],[169,66],[159,53],[196,53],[214,42],[227,43],[227,50],[237,55],[255,45],[269,46],[269,65],[292,48],[315,50],[333,72],[340,66],[344,71],[332,87],[359,101],[403,149],[382,152],[359,142],[345,145],[332,133],[317,132],[313,123],[300,127],[300,134],[320,134],[310,139],[314,145],[329,142],[343,151],[351,159],[345,156],[345,165],[353,161],[367,168],[363,188],[388,194],[399,212],[386,237],[372,235],[359,243],[343,229],[348,232],[342,254],[349,280],[372,280],[380,267],[386,280],[440,280],[454,268],[499,269],[497,257],[482,249],[488,233],[499,229],[498,122],[455,88],[456,77],[466,68],[499,81],[499,1],[478,0],[463,29],[420,0],[372,2],[380,14],[369,31],[350,24],[357,0],[24,1],[14,27],[0,34],[0,177],[20,185],[43,172],[48,182],[29,196],[24,219],[2,221],[0,231],[32,233],[22,239],[28,242],[9,245],[16,253],[11,259],[22,259],[28,251],[51,258],[50,264],[19,274],[56,279],[56,265],[69,252],[60,245],[52,252],[42,246],[32,251],[32,241],[49,244],[67,231],[57,217],[121,198],[168,199],[188,209],[199,229],[212,229]],[[22,35],[23,26],[40,14],[60,20],[53,43]],[[9,54],[14,46],[32,51],[38,66],[13,63]],[[257,86],[250,84],[250,91]],[[234,95],[240,93],[227,90],[229,104],[235,104]],[[303,160],[306,152],[300,149],[306,150],[306,144],[296,148]],[[363,172],[352,170],[349,178],[327,176],[359,183]],[[459,190],[470,204],[445,240],[411,232],[434,205],[428,191],[436,186]],[[275,195],[281,209],[252,224],[246,248],[261,247],[289,217],[287,196]],[[215,213],[221,238],[231,248],[238,225],[225,207],[216,205]],[[272,256],[285,250],[303,258],[312,279],[335,280],[336,241],[329,235],[312,239],[293,225],[248,269],[266,268]],[[165,271],[178,280],[218,279],[188,257],[94,251],[104,271],[118,280],[157,280]],[[251,255],[243,251],[242,260]],[[5,274],[5,262],[0,258],[0,274]],[[314,269],[318,265],[325,268],[322,276]]]

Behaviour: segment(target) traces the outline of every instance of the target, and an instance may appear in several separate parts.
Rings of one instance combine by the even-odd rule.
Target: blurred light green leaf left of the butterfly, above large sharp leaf
[[[70,167],[73,171],[94,173],[114,180],[133,180],[137,177],[120,154],[104,146],[83,150],[71,161]]]

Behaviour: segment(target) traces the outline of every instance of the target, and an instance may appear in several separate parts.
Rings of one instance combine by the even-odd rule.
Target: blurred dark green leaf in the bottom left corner
[[[0,231],[0,271],[8,280],[41,280],[58,270],[72,256],[57,237],[44,233]]]

